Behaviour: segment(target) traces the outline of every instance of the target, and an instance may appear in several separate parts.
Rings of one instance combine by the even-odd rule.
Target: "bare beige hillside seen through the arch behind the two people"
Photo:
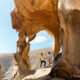
[[[47,59],[48,52],[52,53],[51,47],[33,50],[29,53],[32,69],[39,69],[40,68],[40,55],[41,55],[41,53],[43,53],[44,57],[46,58],[45,61],[47,62],[47,66],[48,66],[48,59]]]

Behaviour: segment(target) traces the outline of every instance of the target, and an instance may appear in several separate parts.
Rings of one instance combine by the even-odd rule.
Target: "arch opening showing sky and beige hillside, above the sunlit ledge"
[[[46,67],[51,67],[53,62],[52,48],[54,48],[54,37],[50,35],[45,30],[36,33],[36,37],[30,42],[30,52],[29,58],[31,62],[32,69],[40,68],[40,56],[43,53],[46,61]],[[50,52],[50,55],[49,55]],[[49,56],[51,56],[51,61],[49,65]],[[42,65],[44,67],[44,64]]]

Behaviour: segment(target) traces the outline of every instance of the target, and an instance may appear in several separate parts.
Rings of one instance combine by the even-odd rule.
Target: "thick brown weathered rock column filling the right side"
[[[58,68],[66,78],[80,74],[80,1],[59,0],[59,19],[63,58]],[[64,64],[64,66],[62,66]],[[63,77],[64,75],[58,76]]]

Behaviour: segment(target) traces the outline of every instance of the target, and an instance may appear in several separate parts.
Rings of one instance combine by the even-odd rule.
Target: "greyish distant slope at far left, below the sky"
[[[10,66],[13,66],[13,54],[0,54],[0,64],[2,66],[2,77],[5,76],[5,73],[8,71]]]

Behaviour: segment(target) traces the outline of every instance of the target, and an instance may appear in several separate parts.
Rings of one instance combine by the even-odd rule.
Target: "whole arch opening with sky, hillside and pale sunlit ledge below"
[[[53,66],[52,48],[54,48],[54,43],[54,36],[50,32],[41,30],[36,33],[36,37],[30,41],[30,51],[28,53],[31,70],[36,70],[36,72],[33,75],[27,76],[26,79],[39,78],[50,73]],[[43,53],[45,58],[46,66],[44,66],[44,63],[41,66],[41,53]]]

